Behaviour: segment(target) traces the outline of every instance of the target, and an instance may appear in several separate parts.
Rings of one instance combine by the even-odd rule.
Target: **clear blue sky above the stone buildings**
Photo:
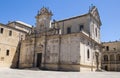
[[[101,41],[120,41],[120,0],[0,0],[0,23],[19,20],[35,25],[43,6],[53,12],[53,19],[61,20],[87,13],[91,4],[102,21]]]

